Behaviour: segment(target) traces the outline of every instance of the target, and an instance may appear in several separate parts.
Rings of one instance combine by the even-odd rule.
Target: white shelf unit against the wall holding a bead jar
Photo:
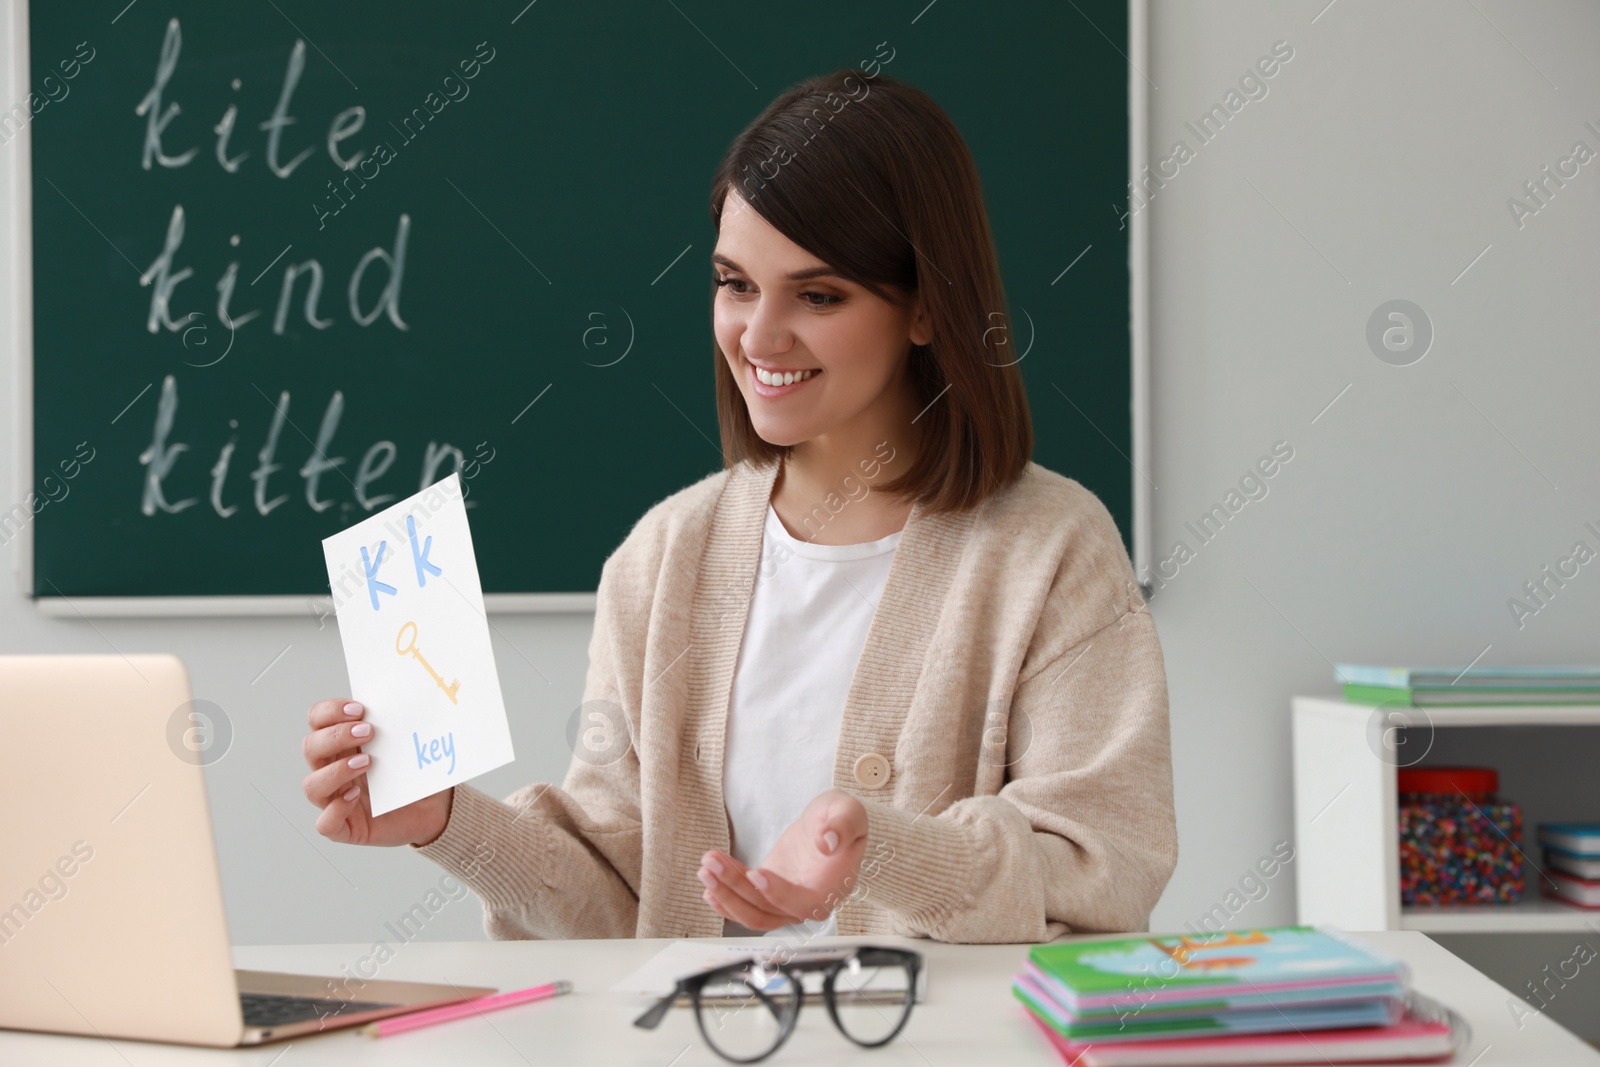
[[[1395,710],[1410,718],[1410,729],[1392,728],[1387,715]],[[1429,934],[1600,933],[1600,910],[1541,896],[1536,873],[1526,864],[1526,888],[1518,904],[1400,907],[1397,768],[1418,761],[1405,745],[1430,745],[1438,731],[1461,726],[1600,728],[1600,704],[1379,710],[1371,704],[1330,697],[1294,697],[1294,893],[1299,921]],[[1530,739],[1528,744],[1538,741]],[[1538,862],[1534,829],[1526,819],[1522,851]]]

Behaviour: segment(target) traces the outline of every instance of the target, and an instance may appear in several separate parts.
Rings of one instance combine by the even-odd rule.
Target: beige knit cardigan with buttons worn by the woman
[[[728,849],[728,694],[776,472],[741,462],[702,478],[606,560],[584,701],[621,709],[626,755],[574,758],[562,787],[504,801],[456,785],[445,832],[418,851],[482,897],[491,936],[722,934],[696,870]],[[869,753],[888,763],[877,785],[858,779]],[[1029,464],[976,509],[912,507],[851,677],[834,785],[869,824],[840,934],[1147,928],[1178,859],[1166,677],[1093,493]]]

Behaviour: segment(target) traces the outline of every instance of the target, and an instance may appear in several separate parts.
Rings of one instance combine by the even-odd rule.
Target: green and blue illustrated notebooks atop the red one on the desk
[[[1120,937],[1034,945],[1069,1014],[1197,995],[1234,997],[1350,981],[1405,982],[1405,965],[1310,926],[1208,937]]]

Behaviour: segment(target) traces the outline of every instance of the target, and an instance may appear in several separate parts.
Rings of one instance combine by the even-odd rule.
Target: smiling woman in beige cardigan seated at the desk
[[[584,701],[626,752],[374,819],[374,728],[325,701],[318,832],[411,845],[496,937],[1144,929],[1178,849],[1162,653],[1110,515],[1029,459],[955,126],[811,78],[710,214],[725,469],[602,571]]]

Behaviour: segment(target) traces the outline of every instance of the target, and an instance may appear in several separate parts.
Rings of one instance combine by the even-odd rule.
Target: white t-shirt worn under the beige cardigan
[[[864,544],[810,544],[766,506],[762,566],[728,704],[723,800],[733,856],[758,867],[811,798],[834,787],[845,697],[901,531]],[[832,934],[832,915],[771,934]],[[733,920],[723,936],[758,934]]]

